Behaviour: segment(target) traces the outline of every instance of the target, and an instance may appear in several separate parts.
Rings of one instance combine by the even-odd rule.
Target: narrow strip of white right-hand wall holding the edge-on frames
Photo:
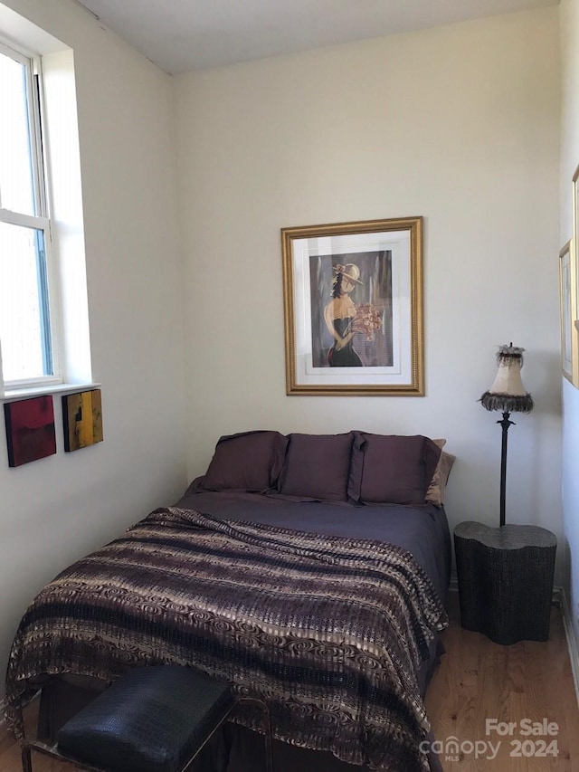
[[[563,246],[573,235],[572,179],[579,164],[579,0],[561,4],[562,130],[561,233]],[[565,591],[574,634],[579,640],[579,391],[563,378],[563,517]]]

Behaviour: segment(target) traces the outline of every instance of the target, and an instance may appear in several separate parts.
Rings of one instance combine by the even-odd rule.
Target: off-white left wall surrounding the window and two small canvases
[[[64,453],[58,396],[56,455],[9,469],[0,431],[0,670],[40,587],[176,500],[186,481],[170,78],[71,0],[4,2],[74,51],[92,369],[105,439]]]

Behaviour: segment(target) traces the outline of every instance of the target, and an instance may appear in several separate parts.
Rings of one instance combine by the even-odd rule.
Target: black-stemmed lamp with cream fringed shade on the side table
[[[505,525],[505,499],[507,489],[507,433],[508,427],[514,426],[509,421],[511,413],[530,413],[535,403],[527,392],[521,379],[524,348],[518,348],[510,343],[499,346],[497,354],[498,372],[489,391],[486,391],[479,402],[487,410],[501,410],[503,417],[497,424],[502,426],[502,452],[500,456],[500,525]]]

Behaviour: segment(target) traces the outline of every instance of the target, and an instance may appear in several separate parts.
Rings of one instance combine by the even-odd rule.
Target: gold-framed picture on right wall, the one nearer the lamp
[[[559,253],[559,298],[561,313],[561,369],[575,387],[579,387],[579,358],[577,357],[576,281],[577,262],[574,239],[568,241]]]

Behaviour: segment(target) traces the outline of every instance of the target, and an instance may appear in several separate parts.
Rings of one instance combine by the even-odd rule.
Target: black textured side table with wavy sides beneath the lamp
[[[460,623],[495,643],[547,641],[555,534],[536,526],[454,529]]]

